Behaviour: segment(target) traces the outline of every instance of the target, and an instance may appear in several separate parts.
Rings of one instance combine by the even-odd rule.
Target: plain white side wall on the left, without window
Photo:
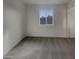
[[[3,1],[3,54],[12,49],[24,36],[24,6],[18,0]]]

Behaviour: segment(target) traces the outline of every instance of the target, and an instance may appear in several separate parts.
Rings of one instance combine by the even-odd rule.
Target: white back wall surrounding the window
[[[39,10],[52,9],[55,12],[53,26],[39,25]],[[67,37],[66,5],[26,5],[26,35],[41,37]]]

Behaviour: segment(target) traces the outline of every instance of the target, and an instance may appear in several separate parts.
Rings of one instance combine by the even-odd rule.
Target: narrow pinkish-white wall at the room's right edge
[[[67,5],[67,29],[68,36],[75,37],[75,0],[71,0]]]

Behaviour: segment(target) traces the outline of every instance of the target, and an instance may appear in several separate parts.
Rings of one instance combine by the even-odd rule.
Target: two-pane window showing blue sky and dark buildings
[[[53,10],[40,10],[40,24],[53,24],[54,23],[54,13]]]

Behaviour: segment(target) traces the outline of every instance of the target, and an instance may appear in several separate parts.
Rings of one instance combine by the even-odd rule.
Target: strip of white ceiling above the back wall
[[[70,0],[22,0],[26,4],[66,4]]]

